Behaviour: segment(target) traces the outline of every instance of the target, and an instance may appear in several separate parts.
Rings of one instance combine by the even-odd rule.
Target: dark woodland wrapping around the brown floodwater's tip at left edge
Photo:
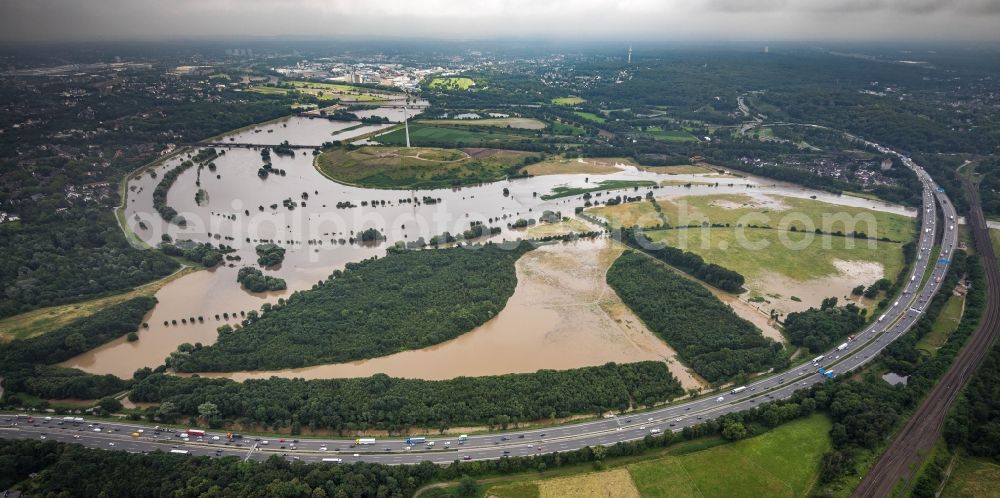
[[[112,375],[90,375],[52,365],[134,332],[156,305],[154,297],[136,297],[29,339],[0,345],[0,375],[17,405],[19,393],[48,399],[96,399],[122,391],[127,382]]]

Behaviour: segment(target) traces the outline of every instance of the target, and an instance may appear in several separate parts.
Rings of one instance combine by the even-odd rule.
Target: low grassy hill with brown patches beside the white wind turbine
[[[333,149],[315,161],[323,175],[342,183],[373,188],[443,188],[496,181],[520,165],[526,152],[457,149],[362,147]]]

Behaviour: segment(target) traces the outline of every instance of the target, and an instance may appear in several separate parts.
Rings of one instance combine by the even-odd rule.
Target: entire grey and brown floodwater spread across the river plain
[[[341,140],[360,134],[356,133],[358,129],[346,130],[350,124],[338,128],[343,124],[290,118],[259,128],[273,130],[271,133],[247,129],[233,136],[237,139],[234,143],[289,140],[293,145],[318,145],[330,140],[338,131],[342,136],[336,139]],[[265,136],[268,141],[260,141]],[[285,176],[272,174],[261,179],[257,176],[262,164],[258,150],[219,150],[225,153],[214,161],[216,171],[205,168],[199,174],[197,168],[188,169],[177,178],[168,194],[168,204],[187,220],[185,227],[163,222],[153,210],[152,194],[163,174],[186,156],[154,167],[156,178],[147,171],[129,181],[125,218],[132,230],[150,245],[159,243],[164,234],[174,240],[222,243],[234,247],[234,254],[242,261],[195,272],[165,285],[156,294],[159,304],[147,317],[148,329],[138,331],[138,341],[112,342],[73,358],[64,366],[131,377],[138,368],[161,365],[180,344],[213,343],[218,326],[236,323],[233,315],[259,309],[263,303],[275,302],[290,292],[308,289],[348,262],[382,256],[386,244],[396,241],[429,239],[444,231],[462,232],[474,221],[501,227],[501,234],[494,240],[521,238],[524,232],[507,228],[508,223],[518,218],[537,218],[544,210],[572,216],[574,208],[583,205],[579,196],[550,201],[541,199],[557,186],[587,187],[607,179],[706,181],[703,175],[667,175],[624,167],[621,171],[600,176],[546,175],[456,189],[376,190],[342,185],[324,178],[313,167],[313,156],[303,155],[302,151],[297,151],[294,157],[272,154],[273,167],[284,170]],[[656,189],[654,193],[662,198],[743,193],[748,185],[753,185],[763,193],[800,198],[816,196],[818,200],[833,204],[914,214],[881,202],[835,196],[753,177],[712,178],[712,181],[723,185],[717,188],[669,186]],[[730,183],[733,186],[728,186]],[[201,205],[195,202],[199,189],[207,194],[207,201]],[[504,194],[505,189],[508,195]],[[617,193],[634,196],[645,195],[650,190],[640,188]],[[424,202],[425,196],[436,202]],[[404,199],[417,201],[401,202]],[[287,202],[296,203],[294,209],[283,205]],[[337,203],[346,202],[354,207],[336,207]],[[368,228],[382,231],[386,244],[362,247],[346,242]],[[285,279],[289,290],[252,294],[236,283],[239,267],[255,264],[254,246],[261,240],[273,240],[287,249],[281,267],[266,273]],[[349,364],[225,375],[238,379],[271,374],[328,378],[383,372],[401,377],[445,379],[540,368],[572,368],[608,361],[669,361],[673,358],[670,348],[624,309],[604,284],[604,272],[617,251],[620,249],[614,248],[609,241],[597,240],[555,244],[528,253],[517,264],[517,290],[500,314],[483,326],[432,348]],[[741,315],[756,313],[738,306],[734,304]],[[223,313],[229,314],[228,322]],[[216,315],[220,316],[218,320]],[[181,324],[182,318],[192,317],[194,323]],[[199,317],[204,321],[198,320]],[[178,325],[164,325],[165,321],[172,320],[177,320]],[[766,317],[761,325],[766,326]],[[770,331],[765,330],[765,333],[773,336]],[[697,379],[686,374],[678,363],[670,363],[670,367],[686,386],[697,384]]]

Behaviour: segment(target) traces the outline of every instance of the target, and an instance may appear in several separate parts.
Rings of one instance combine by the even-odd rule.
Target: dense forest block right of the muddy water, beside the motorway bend
[[[625,251],[608,269],[607,280],[646,326],[709,382],[788,361],[781,344],[765,338],[701,285],[648,256]]]

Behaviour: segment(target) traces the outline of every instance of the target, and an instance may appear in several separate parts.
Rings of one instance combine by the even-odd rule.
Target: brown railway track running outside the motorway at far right
[[[941,435],[948,411],[989,354],[1000,330],[1000,299],[997,298],[1000,296],[1000,269],[979,204],[979,193],[968,180],[963,183],[969,195],[969,226],[986,274],[986,310],[969,343],[854,491],[856,498],[888,496],[901,480],[912,477],[914,469]]]

